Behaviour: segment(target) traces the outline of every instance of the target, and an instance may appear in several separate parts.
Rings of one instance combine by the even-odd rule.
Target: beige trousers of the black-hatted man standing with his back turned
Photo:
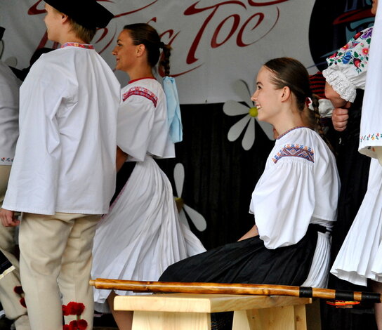
[[[23,213],[20,272],[32,330],[62,330],[62,304],[84,303],[82,319],[93,329],[89,286],[95,225],[100,216]],[[65,317],[65,323],[75,317]]]

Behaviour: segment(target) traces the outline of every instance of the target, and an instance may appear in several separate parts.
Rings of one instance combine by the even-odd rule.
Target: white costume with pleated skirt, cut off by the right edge
[[[382,282],[382,166],[376,159],[381,147],[382,8],[378,8],[371,41],[360,128],[360,152],[371,157],[367,192],[338,253],[331,272],[341,279],[367,285],[367,279]]]

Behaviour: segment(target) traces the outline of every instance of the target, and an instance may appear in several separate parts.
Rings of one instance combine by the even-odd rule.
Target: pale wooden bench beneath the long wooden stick
[[[133,330],[210,330],[211,312],[234,312],[234,330],[320,329],[307,328],[305,305],[312,298],[223,294],[165,293],[117,296],[115,310],[132,310]]]

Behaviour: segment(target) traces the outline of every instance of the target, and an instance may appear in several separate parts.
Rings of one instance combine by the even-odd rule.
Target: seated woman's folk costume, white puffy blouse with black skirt
[[[164,282],[324,287],[339,180],[334,155],[310,128],[279,136],[253,190],[259,235],[171,265]]]

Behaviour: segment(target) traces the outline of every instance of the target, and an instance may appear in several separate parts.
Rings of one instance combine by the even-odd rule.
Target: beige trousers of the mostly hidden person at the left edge
[[[0,166],[0,206],[3,204],[8,185],[11,165]],[[4,227],[0,223],[0,251],[15,266],[15,270],[0,279],[0,302],[6,317],[15,321],[16,330],[29,330],[27,309],[20,304],[20,296],[13,291],[20,286],[20,268],[15,246],[15,227]]]

